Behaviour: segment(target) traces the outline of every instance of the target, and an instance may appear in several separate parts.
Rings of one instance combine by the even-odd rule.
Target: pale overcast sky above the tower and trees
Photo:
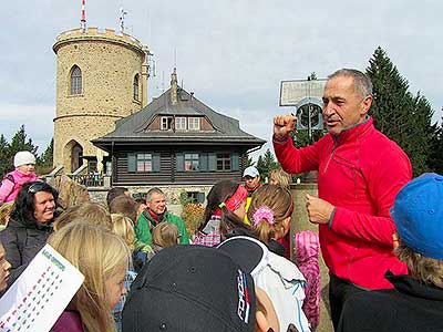
[[[442,116],[443,1],[86,0],[87,27],[119,29],[155,54],[148,97],[167,89],[173,68],[185,90],[269,139],[280,81],[362,71],[380,45],[412,93]],[[25,125],[42,151],[55,115],[56,35],[80,27],[81,0],[2,1],[0,134]],[[176,54],[176,55],[175,55]]]

